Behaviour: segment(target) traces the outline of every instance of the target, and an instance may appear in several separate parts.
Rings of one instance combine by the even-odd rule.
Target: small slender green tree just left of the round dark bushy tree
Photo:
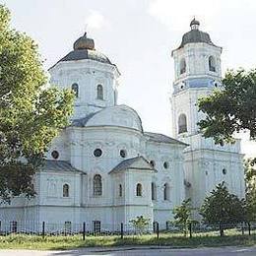
[[[180,206],[173,209],[174,224],[181,224],[184,232],[184,236],[187,235],[188,225],[195,223],[191,217],[191,199],[183,200]]]

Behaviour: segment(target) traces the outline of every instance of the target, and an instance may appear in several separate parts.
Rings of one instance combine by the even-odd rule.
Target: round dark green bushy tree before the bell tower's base
[[[200,215],[205,224],[220,224],[221,235],[225,224],[237,224],[245,221],[244,200],[230,194],[224,182],[218,184],[205,198]]]

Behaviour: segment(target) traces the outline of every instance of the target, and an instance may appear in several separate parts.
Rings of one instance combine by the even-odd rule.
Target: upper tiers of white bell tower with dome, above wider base
[[[190,32],[183,35],[179,47],[172,51],[172,132],[178,139],[197,134],[197,122],[202,117],[196,106],[198,98],[221,86],[222,47],[215,45],[207,32],[199,31],[199,26],[194,19]]]

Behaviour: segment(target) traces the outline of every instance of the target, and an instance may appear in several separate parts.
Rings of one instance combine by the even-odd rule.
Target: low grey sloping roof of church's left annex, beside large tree
[[[44,160],[41,169],[45,170],[45,171],[83,172],[83,171],[73,167],[66,160]]]

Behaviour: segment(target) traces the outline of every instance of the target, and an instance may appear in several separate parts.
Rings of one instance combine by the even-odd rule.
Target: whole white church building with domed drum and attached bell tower
[[[135,109],[117,104],[118,68],[87,33],[49,68],[50,84],[74,91],[74,114],[33,177],[35,198],[0,206],[8,228],[45,222],[72,229],[85,222],[95,230],[115,230],[138,216],[165,226],[185,198],[199,219],[205,196],[222,181],[244,197],[240,141],[217,146],[197,126],[204,117],[198,98],[222,90],[222,47],[199,26],[194,19],[171,52],[172,138],[145,131]]]

